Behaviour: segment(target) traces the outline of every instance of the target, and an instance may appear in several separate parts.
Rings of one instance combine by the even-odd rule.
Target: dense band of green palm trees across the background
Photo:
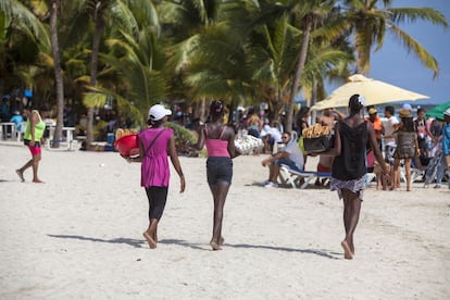
[[[160,102],[185,101],[200,118],[211,99],[230,109],[265,102],[272,117],[287,112],[290,129],[296,96],[302,92],[313,104],[325,98],[325,82],[366,74],[387,32],[438,75],[433,54],[401,25],[422,20],[447,27],[448,21],[434,9],[393,4],[0,0],[0,93],[32,90],[35,102],[58,108],[59,126],[65,105],[87,112],[88,143],[95,140],[93,113],[109,99],[134,126],[142,126],[149,107]]]

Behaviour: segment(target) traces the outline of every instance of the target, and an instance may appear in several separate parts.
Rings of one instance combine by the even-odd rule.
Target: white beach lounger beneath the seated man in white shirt
[[[307,188],[311,183],[315,183],[316,178],[332,178],[330,173],[313,172],[313,171],[296,171],[289,166],[282,164],[279,166],[279,178],[282,184],[291,187],[299,187],[300,189]]]

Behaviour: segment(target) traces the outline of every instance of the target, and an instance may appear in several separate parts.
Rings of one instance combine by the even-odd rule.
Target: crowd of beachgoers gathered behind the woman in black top
[[[442,132],[445,121],[440,121],[440,118],[427,120],[426,111],[423,108],[417,109],[414,117],[414,111],[410,104],[402,105],[397,114],[392,105],[383,108],[383,116],[378,114],[378,110],[379,108],[371,105],[365,107],[365,113],[364,110],[361,112],[364,115],[364,121],[371,123],[374,128],[376,148],[383,154],[383,164],[390,172],[390,180],[383,180],[380,176],[382,165],[375,159],[373,147],[367,143],[365,152],[366,172],[377,175],[377,189],[399,189],[401,179],[403,179],[407,190],[410,191],[412,189],[413,172],[423,174],[420,179],[426,185],[435,183],[435,188],[440,188],[442,180],[450,182],[448,175],[446,175],[447,161],[443,154]],[[241,128],[246,134],[260,138],[264,143],[262,152],[271,154],[270,158],[262,161],[263,166],[271,166],[268,179],[262,183],[263,186],[278,187],[276,178],[279,167],[274,167],[268,162],[274,162],[278,166],[285,164],[292,166],[292,170],[303,171],[309,153],[304,151],[302,132],[304,128],[312,126],[313,122],[308,107],[302,107],[297,113],[295,124],[292,124],[292,133],[284,130],[285,126],[282,118],[271,122],[264,118],[263,115],[263,113],[259,115],[253,109],[249,109],[246,117],[242,118]],[[339,110],[325,109],[315,118],[314,123],[334,128],[336,122],[345,117],[346,115]],[[288,137],[288,143],[282,138],[285,136]],[[302,155],[297,154],[298,150]],[[296,154],[292,155],[292,151]],[[299,160],[302,160],[302,162],[300,163]],[[332,165],[333,158],[320,155],[316,172],[330,173]],[[316,180],[316,185],[323,185],[324,183],[318,178]]]

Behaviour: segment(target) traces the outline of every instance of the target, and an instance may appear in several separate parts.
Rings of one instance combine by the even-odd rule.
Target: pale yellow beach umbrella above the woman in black
[[[364,97],[365,107],[398,101],[429,99],[428,96],[402,89],[380,80],[367,78],[361,74],[355,74],[349,77],[347,84],[335,89],[327,98],[313,105],[311,110],[347,107],[350,97],[354,93]]]

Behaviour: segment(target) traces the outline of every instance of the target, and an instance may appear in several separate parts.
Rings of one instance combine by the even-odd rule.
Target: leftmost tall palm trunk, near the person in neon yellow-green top
[[[60,0],[51,1],[51,15],[50,15],[50,37],[51,37],[51,50],[53,53],[54,62],[54,80],[57,84],[57,128],[53,136],[53,148],[60,147],[60,140],[62,137],[62,127],[63,127],[63,114],[64,114],[64,85],[63,76],[61,71],[61,58],[60,58],[60,47],[58,40],[58,11]]]

